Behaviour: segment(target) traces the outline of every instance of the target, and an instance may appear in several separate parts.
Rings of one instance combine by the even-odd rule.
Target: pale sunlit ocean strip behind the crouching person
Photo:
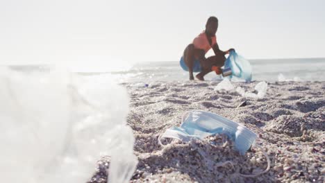
[[[253,70],[253,80],[278,81],[324,81],[325,58],[249,60]],[[142,62],[127,71],[110,72],[124,82],[154,82],[156,80],[188,80],[187,71],[179,66],[179,61]],[[206,80],[221,80],[215,73],[208,73]]]

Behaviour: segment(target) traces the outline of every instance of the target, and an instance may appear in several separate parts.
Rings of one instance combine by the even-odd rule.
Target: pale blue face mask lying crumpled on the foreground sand
[[[244,155],[256,140],[257,135],[234,121],[211,112],[192,110],[183,118],[179,128],[167,129],[160,138],[173,138],[190,141],[203,139],[213,134],[226,134],[235,142],[235,148]]]

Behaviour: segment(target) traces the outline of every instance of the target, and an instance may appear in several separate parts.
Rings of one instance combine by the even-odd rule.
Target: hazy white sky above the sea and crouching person
[[[0,63],[178,60],[219,19],[245,58],[325,57],[324,0],[0,0]]]

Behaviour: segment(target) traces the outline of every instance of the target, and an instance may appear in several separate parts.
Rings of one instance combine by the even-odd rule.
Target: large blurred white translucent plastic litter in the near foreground
[[[0,67],[0,98],[3,182],[87,182],[102,155],[111,156],[109,182],[130,180],[128,95],[109,77]]]

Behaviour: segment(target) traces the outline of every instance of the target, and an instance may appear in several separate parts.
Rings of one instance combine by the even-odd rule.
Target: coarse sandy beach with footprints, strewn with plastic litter
[[[271,82],[263,98],[245,98],[234,90],[214,91],[218,82],[122,84],[131,96],[127,122],[135,135],[139,161],[130,182],[324,182],[325,82]],[[257,83],[233,85],[253,92]],[[238,107],[244,101],[246,105]],[[265,170],[267,159],[256,148],[240,155],[222,135],[189,143],[163,140],[167,146],[160,146],[158,136],[179,126],[189,110],[219,114],[258,134],[256,144],[269,156],[269,171],[241,176]],[[231,163],[224,164],[227,161]],[[99,161],[90,182],[106,182],[109,162],[109,157]]]

